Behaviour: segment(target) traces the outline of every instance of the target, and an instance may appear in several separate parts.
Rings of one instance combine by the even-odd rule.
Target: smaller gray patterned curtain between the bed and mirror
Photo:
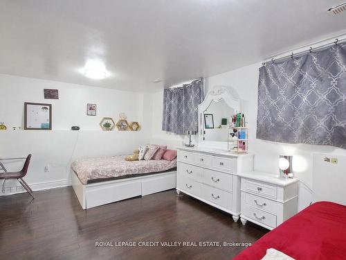
[[[185,130],[198,130],[198,105],[204,99],[203,78],[183,87],[163,92],[162,130],[182,135]]]

